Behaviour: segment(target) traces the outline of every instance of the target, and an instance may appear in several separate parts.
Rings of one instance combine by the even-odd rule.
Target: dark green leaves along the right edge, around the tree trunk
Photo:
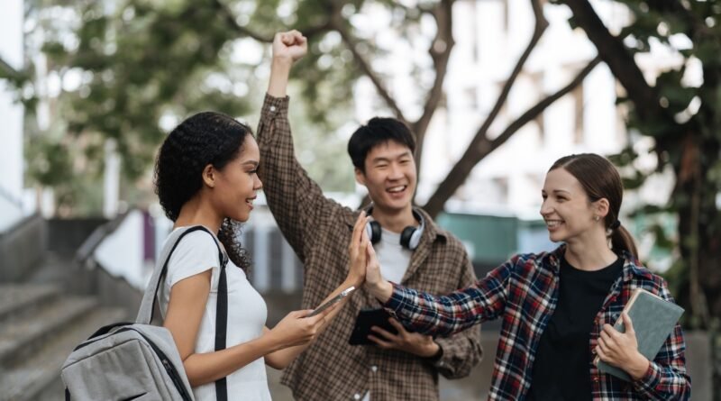
[[[680,63],[675,68],[662,70],[653,83],[662,106],[634,104],[627,98],[618,102],[630,109],[627,126],[629,131],[653,138],[658,165],[653,171],[635,168],[639,155],[629,146],[613,161],[625,171],[625,185],[634,189],[654,174],[671,167],[676,188],[667,205],[643,206],[635,216],[656,219],[678,215],[677,239],[668,235],[661,224],[649,227],[655,238],[655,247],[677,255],[671,269],[666,272],[671,290],[689,307],[689,269],[692,258],[698,255],[699,274],[708,276],[699,283],[706,287],[709,310],[717,312],[717,287],[719,272],[707,266],[708,260],[716,258],[721,238],[721,213],[716,199],[721,188],[721,1],[705,2],[618,0],[633,14],[634,22],[621,32],[628,50],[634,53],[648,52],[652,46],[664,45],[676,51]],[[692,74],[691,74],[692,73]],[[689,79],[700,74],[696,82]],[[649,118],[649,115],[653,115]],[[696,217],[693,215],[696,214]],[[698,221],[698,226],[692,222]],[[703,273],[705,272],[705,273]],[[692,302],[692,301],[691,301]],[[692,308],[686,324],[690,327],[703,325],[697,308]],[[714,324],[713,321],[706,324]]]

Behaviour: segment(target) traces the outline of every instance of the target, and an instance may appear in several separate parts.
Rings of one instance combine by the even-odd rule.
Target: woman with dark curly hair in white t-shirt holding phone
[[[219,113],[195,114],[180,123],[158,155],[156,192],[174,228],[203,225],[217,233],[230,261],[227,348],[214,351],[219,277],[218,248],[211,235],[196,231],[178,243],[160,286],[164,326],[173,335],[187,378],[198,400],[216,399],[214,382],[225,378],[231,399],[269,400],[265,364],[283,369],[321,333],[338,307],[306,317],[310,310],[287,314],[273,329],[267,309],[246,278],[249,260],[238,242],[237,223],[250,217],[262,187],[256,174],[260,152],[251,130]],[[356,223],[359,241],[366,220]],[[166,244],[169,246],[169,244]],[[330,295],[360,286],[364,265],[349,269]],[[347,298],[346,298],[347,299]]]

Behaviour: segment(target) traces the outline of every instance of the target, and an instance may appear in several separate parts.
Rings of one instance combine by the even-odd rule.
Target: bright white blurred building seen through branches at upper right
[[[534,47],[516,83],[488,130],[494,139],[509,123],[544,97],[565,87],[582,68],[596,57],[597,50],[581,30],[572,30],[570,9],[564,5],[541,2],[548,27]],[[630,22],[625,5],[591,1],[610,32],[617,34]],[[412,63],[423,65],[434,35],[433,21],[421,20],[420,30],[426,38],[407,41],[397,32],[386,29],[392,16],[382,6],[369,6],[356,27],[364,26],[378,35],[378,45],[391,50],[373,67],[389,77],[388,90],[396,97],[404,113],[415,119],[422,113],[429,79],[416,74]],[[430,18],[430,17],[428,17]],[[459,0],[453,5],[453,40],[455,47],[448,65],[443,89],[444,99],[426,132],[416,201],[423,205],[434,194],[453,165],[468,148],[471,139],[493,109],[516,61],[524,52],[534,32],[534,13],[525,0]],[[352,20],[351,20],[352,21]],[[685,45],[675,41],[674,48]],[[412,43],[409,46],[407,43]],[[647,54],[636,56],[647,79],[665,68],[678,66],[678,52],[661,44]],[[430,63],[429,60],[426,64]],[[700,69],[691,66],[689,80],[700,79]],[[428,70],[432,71],[430,66]],[[420,80],[420,82],[419,82]],[[357,86],[357,115],[361,122],[377,114],[389,114],[370,80],[361,79]],[[540,220],[541,188],[546,171],[553,161],[572,153],[594,152],[611,155],[631,143],[639,154],[653,147],[648,138],[627,132],[625,109],[616,105],[617,94],[623,95],[616,78],[604,63],[599,64],[569,94],[548,106],[534,121],[526,123],[500,148],[494,150],[470,172],[465,183],[445,205],[447,211],[461,214],[514,215],[522,220]],[[373,99],[372,101],[370,99]],[[654,156],[641,159],[645,169],[655,167]],[[671,172],[649,179],[638,191],[626,191],[622,214],[637,205],[664,205],[671,193]],[[651,223],[643,218],[624,222],[634,232],[642,256],[653,256],[655,266],[666,269],[671,255],[654,248],[653,236],[645,232]],[[673,235],[674,222],[663,222]],[[534,251],[519,249],[517,251]]]

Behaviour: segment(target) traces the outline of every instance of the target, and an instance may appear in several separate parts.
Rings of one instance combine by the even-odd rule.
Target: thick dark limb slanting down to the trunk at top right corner
[[[644,120],[653,118],[671,120],[659,104],[659,96],[654,87],[646,83],[634,56],[626,50],[620,38],[608,32],[606,25],[589,4],[588,0],[564,0],[583,31],[598,50],[598,56],[608,65],[613,75],[625,87],[628,96],[636,105],[636,113]]]

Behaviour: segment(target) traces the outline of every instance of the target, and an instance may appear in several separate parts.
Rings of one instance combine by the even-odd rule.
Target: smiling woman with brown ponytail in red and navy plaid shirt
[[[663,278],[638,261],[634,240],[618,221],[623,186],[614,166],[596,154],[561,158],[542,195],[550,238],[564,242],[555,251],[516,255],[472,287],[432,296],[385,281],[368,247],[367,287],[424,334],[501,318],[488,399],[689,399],[680,325],[647,360],[637,350],[633,323],[621,314],[637,287],[673,299]],[[612,327],[619,314],[625,333]],[[632,382],[601,373],[596,355]]]

